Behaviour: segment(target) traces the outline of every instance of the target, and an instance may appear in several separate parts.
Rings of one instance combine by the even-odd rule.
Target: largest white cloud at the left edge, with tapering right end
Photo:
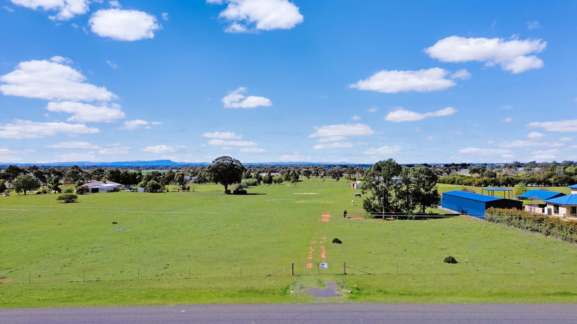
[[[16,69],[0,77],[0,91],[6,96],[20,96],[46,100],[110,101],[114,93],[103,86],[86,83],[86,77],[68,65],[54,61],[26,61],[18,63]]]

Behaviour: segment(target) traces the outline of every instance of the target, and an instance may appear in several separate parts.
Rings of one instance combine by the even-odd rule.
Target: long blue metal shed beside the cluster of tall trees
[[[454,190],[441,195],[441,207],[484,220],[487,208],[523,209],[523,202]]]

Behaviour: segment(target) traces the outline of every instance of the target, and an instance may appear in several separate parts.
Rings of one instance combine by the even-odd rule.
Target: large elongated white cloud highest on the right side
[[[547,42],[541,42],[541,39],[449,36],[426,48],[425,52],[441,62],[479,61],[485,62],[485,66],[499,64],[501,69],[516,74],[543,67],[541,59],[529,54],[542,52],[546,46]]]

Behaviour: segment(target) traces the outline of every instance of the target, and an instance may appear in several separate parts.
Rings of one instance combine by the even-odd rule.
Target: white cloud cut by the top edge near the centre
[[[207,3],[227,3],[219,17],[231,22],[224,30],[231,33],[291,29],[304,17],[288,0],[207,0]]]

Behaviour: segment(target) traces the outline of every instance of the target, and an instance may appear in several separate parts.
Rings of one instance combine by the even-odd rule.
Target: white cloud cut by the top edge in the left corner
[[[50,16],[52,20],[69,20],[70,18],[88,12],[89,0],[9,0],[14,5],[27,7],[33,10],[39,8],[44,10],[58,11],[55,16]]]

